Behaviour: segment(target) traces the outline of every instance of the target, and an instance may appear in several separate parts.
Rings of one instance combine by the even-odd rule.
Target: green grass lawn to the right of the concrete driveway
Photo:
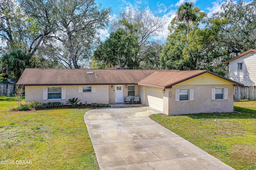
[[[234,105],[242,114],[158,114],[150,118],[237,170],[255,169],[256,101]]]

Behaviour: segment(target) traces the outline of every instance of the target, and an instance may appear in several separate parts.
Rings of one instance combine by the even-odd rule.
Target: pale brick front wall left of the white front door
[[[86,85],[84,85],[86,86]],[[43,100],[43,87],[66,87],[66,99],[48,99]],[[78,85],[65,85],[65,86],[25,86],[25,102],[38,101],[41,103],[48,102],[62,102],[64,105],[68,99],[78,97],[83,104],[109,103],[109,85],[95,85],[96,93],[78,93]],[[111,88],[111,86],[110,86]],[[79,102],[79,103],[80,103]]]

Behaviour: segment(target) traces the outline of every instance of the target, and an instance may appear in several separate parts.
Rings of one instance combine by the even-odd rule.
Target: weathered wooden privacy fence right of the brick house
[[[234,87],[234,100],[256,100],[256,86]]]

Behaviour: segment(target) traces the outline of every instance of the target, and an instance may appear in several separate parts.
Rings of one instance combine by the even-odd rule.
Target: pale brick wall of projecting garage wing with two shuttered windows
[[[228,99],[212,100],[212,89],[224,88],[228,89]],[[194,89],[194,101],[175,101],[176,89]],[[170,93],[171,97],[169,97]],[[163,113],[166,115],[214,113],[215,111],[230,113],[233,112],[233,95],[233,85],[174,85],[172,89],[165,89]]]

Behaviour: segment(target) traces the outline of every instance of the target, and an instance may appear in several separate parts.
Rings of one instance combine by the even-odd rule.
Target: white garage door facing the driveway
[[[146,105],[158,111],[163,111],[163,89],[146,87]]]

